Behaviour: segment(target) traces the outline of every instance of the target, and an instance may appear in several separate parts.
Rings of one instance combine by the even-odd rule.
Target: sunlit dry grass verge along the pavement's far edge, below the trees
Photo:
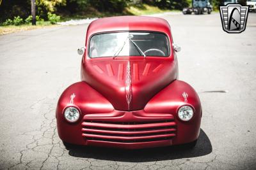
[[[154,13],[164,13],[171,10],[161,10],[157,6],[150,6],[148,4],[140,4],[140,5],[134,5],[129,6],[125,8],[123,13],[101,13],[99,11],[96,11],[95,9],[88,9],[87,13],[84,13],[84,15],[72,15],[72,16],[61,16],[60,22],[65,22],[67,20],[74,20],[74,19],[83,19],[83,18],[95,18],[95,17],[111,17],[111,16],[117,16],[117,15],[150,15]],[[172,10],[173,11],[173,10]],[[19,26],[15,25],[7,25],[7,26],[0,26],[0,35],[1,34],[9,34],[12,32],[19,32],[19,31],[26,31],[30,29],[39,29],[43,27],[54,27],[58,25],[52,25],[49,21],[37,21],[36,25],[31,24],[23,24]]]

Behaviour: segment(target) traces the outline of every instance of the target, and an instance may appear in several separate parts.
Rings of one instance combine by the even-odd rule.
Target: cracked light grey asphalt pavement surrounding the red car
[[[88,25],[0,36],[0,169],[255,169],[256,13],[228,34],[219,13],[161,16],[172,27],[179,79],[200,96],[198,144],[184,148],[67,150],[56,131],[61,92],[80,80]]]

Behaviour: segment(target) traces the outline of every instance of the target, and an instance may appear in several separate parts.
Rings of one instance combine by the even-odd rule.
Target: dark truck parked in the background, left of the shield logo
[[[195,13],[196,15],[198,15],[203,14],[204,12],[211,14],[211,11],[212,5],[209,0],[193,0],[191,8],[183,8],[182,10],[184,15],[191,13]]]

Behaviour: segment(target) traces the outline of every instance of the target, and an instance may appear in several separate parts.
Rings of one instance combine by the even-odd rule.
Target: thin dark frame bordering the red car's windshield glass
[[[111,33],[118,33],[118,32],[148,32],[148,33],[159,33],[159,34],[163,34],[164,36],[166,36],[166,38],[167,38],[167,43],[168,43],[168,45],[167,45],[167,47],[168,47],[168,54],[166,55],[166,56],[147,56],[146,55],[146,57],[164,57],[164,58],[168,58],[168,57],[170,57],[170,55],[172,55],[172,48],[170,48],[170,38],[169,38],[169,36],[167,35],[167,34],[165,34],[164,32],[159,32],[159,31],[136,31],[136,30],[129,30],[129,31],[108,31],[108,32],[97,32],[97,33],[95,33],[95,34],[92,34],[91,36],[90,36],[90,38],[89,38],[89,41],[88,41],[88,45],[87,45],[87,56],[90,58],[90,59],[99,59],[99,58],[113,58],[113,56],[104,56],[104,57],[91,57],[90,56],[90,44],[91,44],[91,39],[93,38],[93,36],[96,36],[96,35],[98,35],[98,34],[111,34]],[[143,57],[143,55],[136,55],[136,56],[134,56],[134,55],[118,55],[118,56],[116,56],[116,57],[141,57],[141,58],[144,58]],[[115,57],[115,58],[116,58]]]

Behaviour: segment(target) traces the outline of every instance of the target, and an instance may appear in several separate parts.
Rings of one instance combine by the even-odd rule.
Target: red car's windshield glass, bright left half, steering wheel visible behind
[[[115,32],[90,39],[89,55],[97,57],[170,55],[168,38],[157,32]]]

